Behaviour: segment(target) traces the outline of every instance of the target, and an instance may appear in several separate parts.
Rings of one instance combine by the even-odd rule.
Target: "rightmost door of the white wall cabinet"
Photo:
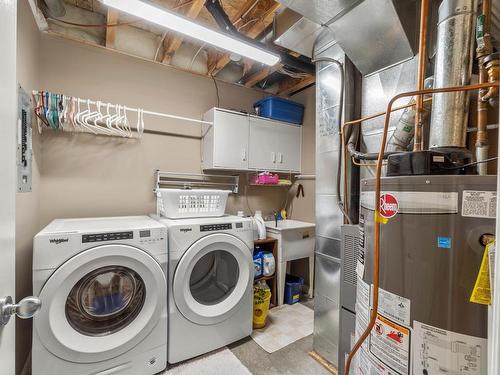
[[[277,123],[276,126],[276,169],[300,172],[301,136],[300,126]]]

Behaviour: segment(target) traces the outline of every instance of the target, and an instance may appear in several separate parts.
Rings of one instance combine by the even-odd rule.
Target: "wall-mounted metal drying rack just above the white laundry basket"
[[[170,189],[222,189],[238,194],[239,176],[155,171],[154,191]]]

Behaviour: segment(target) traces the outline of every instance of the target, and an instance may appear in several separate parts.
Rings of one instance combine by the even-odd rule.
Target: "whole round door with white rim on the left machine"
[[[166,309],[166,280],[146,252],[104,245],[69,259],[47,280],[34,328],[54,355],[99,362],[142,341]],[[166,332],[165,332],[166,335]]]

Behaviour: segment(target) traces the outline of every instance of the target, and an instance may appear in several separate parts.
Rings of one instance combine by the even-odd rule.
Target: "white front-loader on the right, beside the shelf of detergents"
[[[170,220],[168,362],[221,348],[252,332],[253,233],[236,216]]]

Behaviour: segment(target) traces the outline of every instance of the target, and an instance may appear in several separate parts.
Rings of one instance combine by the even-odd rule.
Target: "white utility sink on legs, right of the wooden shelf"
[[[313,296],[314,275],[314,223],[298,220],[266,221],[267,236],[278,240],[278,305],[283,304],[287,262],[309,258],[309,296]]]

